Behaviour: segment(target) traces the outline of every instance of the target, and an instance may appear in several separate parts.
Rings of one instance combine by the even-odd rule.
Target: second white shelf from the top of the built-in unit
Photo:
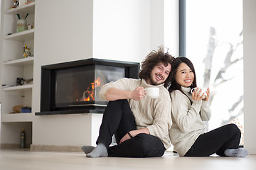
[[[31,40],[34,38],[34,32],[35,29],[31,29],[31,30],[24,30],[20,33],[14,33],[11,35],[6,35],[4,37],[4,39],[6,40],[20,40],[20,41],[25,41],[25,40]]]

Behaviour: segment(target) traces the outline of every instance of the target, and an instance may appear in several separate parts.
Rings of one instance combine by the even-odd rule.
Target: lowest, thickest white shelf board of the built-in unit
[[[15,123],[15,122],[32,122],[32,113],[2,113],[2,123]]]

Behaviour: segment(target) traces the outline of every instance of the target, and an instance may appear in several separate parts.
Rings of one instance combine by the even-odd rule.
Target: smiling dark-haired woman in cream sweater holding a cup
[[[248,152],[238,148],[241,132],[235,124],[224,125],[206,132],[203,121],[210,120],[208,99],[210,89],[201,94],[196,89],[196,72],[186,57],[177,57],[174,64],[174,78],[169,88],[171,94],[171,118],[169,130],[174,150],[184,157],[246,157]],[[205,98],[203,98],[205,96]]]

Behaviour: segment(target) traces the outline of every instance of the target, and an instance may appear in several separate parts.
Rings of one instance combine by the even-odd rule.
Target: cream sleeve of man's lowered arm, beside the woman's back
[[[171,98],[169,92],[163,88],[158,100],[154,101],[154,121],[147,126],[150,135],[164,138],[171,128]]]

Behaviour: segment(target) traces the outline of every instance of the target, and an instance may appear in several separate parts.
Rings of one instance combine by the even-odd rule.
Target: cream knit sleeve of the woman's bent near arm
[[[202,101],[193,101],[191,105],[188,97],[178,90],[171,93],[171,100],[171,114],[174,121],[182,132],[188,132],[200,116]]]

